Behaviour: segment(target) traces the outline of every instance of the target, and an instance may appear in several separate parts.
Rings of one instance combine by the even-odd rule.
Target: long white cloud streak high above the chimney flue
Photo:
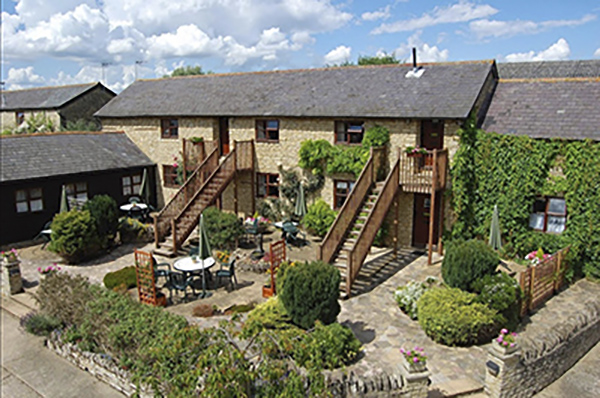
[[[371,33],[409,32],[434,25],[468,22],[474,19],[489,17],[497,12],[497,9],[487,4],[478,5],[460,0],[458,3],[448,7],[435,7],[433,11],[425,13],[419,18],[406,19],[389,24],[383,23],[371,31]]]

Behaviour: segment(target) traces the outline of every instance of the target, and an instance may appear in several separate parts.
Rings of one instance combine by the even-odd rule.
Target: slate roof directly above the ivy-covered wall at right
[[[500,80],[483,129],[600,141],[600,78]]]

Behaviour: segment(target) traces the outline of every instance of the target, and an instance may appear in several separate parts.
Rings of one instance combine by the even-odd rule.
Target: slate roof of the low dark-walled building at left
[[[0,182],[154,165],[124,133],[3,136],[0,159]]]

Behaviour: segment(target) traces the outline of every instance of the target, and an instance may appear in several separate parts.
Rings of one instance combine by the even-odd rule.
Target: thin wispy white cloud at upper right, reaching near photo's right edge
[[[469,23],[469,29],[477,38],[486,37],[511,37],[521,34],[535,34],[552,28],[565,26],[579,26],[594,21],[595,15],[584,15],[580,19],[562,19],[553,21],[496,21],[480,19]]]

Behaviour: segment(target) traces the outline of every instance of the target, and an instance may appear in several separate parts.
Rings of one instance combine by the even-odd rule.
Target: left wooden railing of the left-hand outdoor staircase
[[[217,168],[219,164],[218,147],[215,145],[204,161],[192,173],[187,181],[179,188],[173,199],[163,207],[163,209],[154,216],[154,244],[158,248],[162,241],[171,230],[171,220],[177,216],[202,187],[208,176]]]

